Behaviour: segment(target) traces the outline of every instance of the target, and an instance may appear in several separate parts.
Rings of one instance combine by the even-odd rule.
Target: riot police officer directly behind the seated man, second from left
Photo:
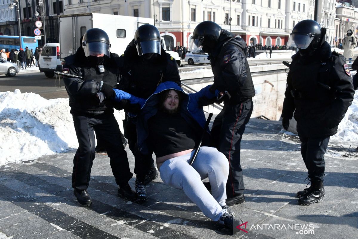
[[[178,65],[161,46],[159,30],[150,24],[144,24],[136,30],[134,39],[120,57],[119,69],[120,82],[117,89],[140,98],[147,99],[161,82],[174,81],[181,86]],[[129,112],[135,112],[137,108],[127,102],[122,102],[122,105],[125,111]],[[139,152],[135,118],[126,115],[123,126],[129,148],[135,158],[135,188],[138,199],[145,200],[147,196],[144,185],[158,177],[152,158],[153,150],[150,150],[148,155]]]

